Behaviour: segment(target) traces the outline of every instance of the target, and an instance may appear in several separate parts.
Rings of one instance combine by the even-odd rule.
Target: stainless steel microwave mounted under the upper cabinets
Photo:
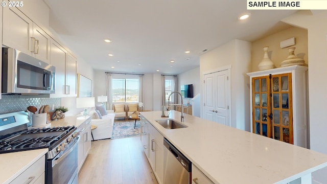
[[[54,94],[55,66],[2,48],[2,94]]]

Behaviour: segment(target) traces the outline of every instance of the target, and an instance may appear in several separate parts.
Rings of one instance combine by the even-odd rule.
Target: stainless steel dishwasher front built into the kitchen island
[[[192,163],[166,138],[164,139],[164,183],[192,183]]]

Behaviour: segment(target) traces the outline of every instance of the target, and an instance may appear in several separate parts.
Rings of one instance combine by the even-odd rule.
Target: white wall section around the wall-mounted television
[[[185,84],[193,84],[193,96],[200,94],[200,67],[186,71],[178,75],[178,91],[180,86]],[[183,103],[187,104],[192,98],[183,98]],[[193,108],[193,107],[192,107]]]

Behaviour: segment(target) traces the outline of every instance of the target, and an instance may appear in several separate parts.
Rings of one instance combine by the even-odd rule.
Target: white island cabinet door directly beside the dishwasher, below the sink
[[[158,183],[164,183],[164,136],[151,124],[149,131],[149,163]]]

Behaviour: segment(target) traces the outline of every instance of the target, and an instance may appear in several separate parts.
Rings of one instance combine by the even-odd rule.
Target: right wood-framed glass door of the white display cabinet
[[[272,137],[293,144],[292,75],[272,75]]]

